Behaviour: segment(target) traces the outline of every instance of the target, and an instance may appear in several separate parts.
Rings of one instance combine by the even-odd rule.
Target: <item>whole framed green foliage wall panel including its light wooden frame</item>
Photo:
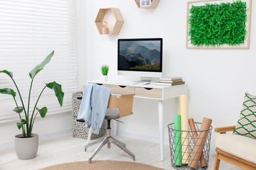
[[[251,0],[187,2],[186,48],[249,48]]]

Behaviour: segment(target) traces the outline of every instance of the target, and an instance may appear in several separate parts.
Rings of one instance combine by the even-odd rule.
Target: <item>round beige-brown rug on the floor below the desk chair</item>
[[[79,170],[79,169],[87,169],[87,170],[162,170],[159,167],[153,167],[151,165],[145,165],[143,163],[131,162],[131,161],[92,161],[92,163],[88,163],[88,161],[75,161],[72,163],[62,163],[58,165],[53,165],[50,167],[45,167],[41,170]]]

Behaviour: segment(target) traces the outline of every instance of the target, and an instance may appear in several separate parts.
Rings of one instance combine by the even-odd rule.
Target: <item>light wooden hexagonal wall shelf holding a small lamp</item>
[[[112,12],[112,14],[114,15],[114,17],[116,19],[116,22],[113,26],[112,31],[109,34],[102,34],[102,27],[103,27],[102,22],[104,20],[104,16],[105,16],[107,10],[110,10]],[[124,21],[123,21],[123,17],[121,16],[120,10],[115,9],[115,8],[99,9],[98,14],[95,19],[96,27],[98,28],[98,32],[101,35],[118,35],[119,31],[121,30],[121,27],[123,26],[123,22]]]

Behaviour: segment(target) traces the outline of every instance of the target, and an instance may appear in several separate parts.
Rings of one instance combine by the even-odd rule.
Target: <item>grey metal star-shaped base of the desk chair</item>
[[[89,158],[89,163],[91,163],[91,160],[93,160],[93,158],[95,157],[95,155],[100,151],[100,149],[105,145],[108,144],[108,148],[110,148],[110,144],[116,144],[116,146],[118,146],[119,148],[121,148],[121,150],[123,150],[124,152],[126,152],[127,154],[129,154],[129,156],[131,156],[131,158],[133,158],[133,161],[135,161],[135,155],[129,151],[126,148],[126,144],[122,143],[121,141],[115,139],[114,137],[111,137],[110,135],[110,130],[111,129],[107,129],[107,136],[106,137],[102,137],[101,139],[99,139],[98,141],[95,141],[93,143],[87,144],[85,146],[85,152],[87,151],[87,148],[89,148],[90,146],[93,146],[97,143],[100,143],[100,145],[96,148],[95,152],[93,152],[93,154],[90,156]]]

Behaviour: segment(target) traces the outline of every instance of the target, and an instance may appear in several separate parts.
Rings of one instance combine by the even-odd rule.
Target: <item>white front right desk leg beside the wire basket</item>
[[[160,132],[160,157],[163,161],[163,101],[158,100],[159,132]]]

